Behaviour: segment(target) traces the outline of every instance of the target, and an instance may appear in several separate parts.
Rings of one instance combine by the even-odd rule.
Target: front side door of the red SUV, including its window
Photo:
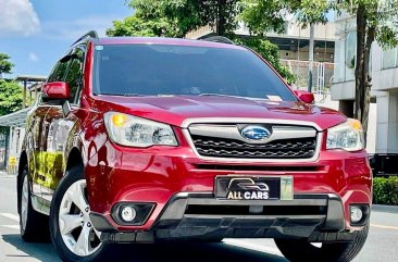
[[[47,112],[43,121],[46,126],[43,139],[46,140],[45,151],[47,154],[47,170],[46,182],[41,187],[41,196],[49,205],[53,192],[63,177],[66,165],[65,150],[67,145],[71,144],[71,139],[73,138],[71,133],[74,133],[74,126],[77,122],[77,117],[73,112],[79,107],[78,101],[83,85],[84,58],[85,48],[84,46],[79,46],[73,50],[67,59],[69,62],[64,82],[70,86],[69,103],[72,108],[72,112],[65,115],[61,105],[52,107]]]

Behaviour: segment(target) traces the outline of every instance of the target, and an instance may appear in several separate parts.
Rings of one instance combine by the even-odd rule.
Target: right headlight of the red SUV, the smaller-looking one
[[[326,149],[359,151],[364,148],[361,122],[348,118],[347,122],[327,129]]]

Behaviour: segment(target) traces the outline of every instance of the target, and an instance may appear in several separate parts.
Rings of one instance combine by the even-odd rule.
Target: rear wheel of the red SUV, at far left
[[[49,217],[33,208],[29,178],[29,170],[26,164],[17,188],[21,237],[26,242],[49,241]]]

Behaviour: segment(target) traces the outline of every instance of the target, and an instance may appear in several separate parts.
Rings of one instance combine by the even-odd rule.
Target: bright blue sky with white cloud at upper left
[[[133,11],[126,0],[0,0],[0,52],[15,64],[11,75],[47,76],[74,40]]]

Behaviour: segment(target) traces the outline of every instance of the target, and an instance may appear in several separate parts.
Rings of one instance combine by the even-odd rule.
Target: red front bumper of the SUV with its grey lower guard
[[[322,226],[328,230],[331,224],[335,224],[329,227],[332,233],[362,228],[350,224],[349,205],[371,203],[372,176],[365,151],[322,150],[316,161],[308,163],[237,161],[220,163],[198,159],[189,145],[182,141],[177,148],[151,147],[148,149],[125,148],[108,141],[98,154],[88,161],[85,173],[88,198],[94,212],[92,220],[97,221],[94,222],[95,226],[104,233],[104,238],[114,236],[111,238],[115,239],[116,236],[128,235],[128,241],[137,241],[137,238],[140,239],[139,241],[142,239],[146,241],[158,238],[189,238],[198,235],[212,237],[215,233],[221,237],[247,235],[313,237],[312,233],[320,232],[319,228]],[[213,207],[212,210],[217,210],[217,205],[222,205],[225,210],[224,205],[232,203],[214,199],[214,178],[239,175],[293,176],[295,199],[286,202],[264,201],[265,213],[261,215],[241,214],[239,213],[241,208],[233,209],[232,213],[202,213],[201,215],[202,207],[200,205],[203,205],[201,203],[203,201]],[[329,200],[331,196],[334,196],[332,200]],[[335,212],[334,198],[339,199],[338,209],[343,210],[341,212]],[[116,204],[124,202],[153,203],[154,208],[142,224],[122,225],[112,217],[112,211]],[[315,202],[318,205],[309,204],[312,208],[302,209],[308,207],[302,204],[303,202]],[[252,204],[259,205],[259,202]],[[195,205],[196,211],[194,209],[194,213],[182,215],[182,210],[188,208],[188,211],[192,211],[190,205]],[[245,201],[244,203],[234,202],[234,205],[250,204]],[[314,205],[320,207],[318,213],[302,213],[303,210],[312,212]],[[173,214],[179,214],[179,216],[174,219],[165,216],[171,212],[167,211],[170,207],[174,207]],[[291,209],[297,213],[295,215],[266,213],[268,210],[279,210],[283,207],[297,207]],[[333,219],[333,215],[338,219]],[[259,223],[257,229],[254,228],[256,232],[245,229],[250,234],[241,233],[239,228],[244,227],[239,226],[252,223]],[[238,229],[227,230],[227,227],[235,228],[233,227],[235,225],[239,225],[236,227]],[[301,229],[298,230],[298,228],[302,225],[306,228],[300,233]],[[294,234],[289,234],[289,227],[296,227],[293,229]],[[258,232],[259,228],[263,229],[263,233]],[[334,237],[327,236],[327,238]]]

